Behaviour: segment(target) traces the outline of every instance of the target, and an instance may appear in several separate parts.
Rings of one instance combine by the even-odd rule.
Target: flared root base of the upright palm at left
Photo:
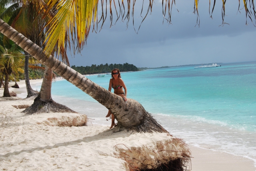
[[[22,113],[25,113],[25,114],[39,114],[39,113],[50,113],[50,112],[77,113],[76,111],[73,111],[67,106],[56,103],[53,100],[51,102],[44,102],[44,101],[41,101],[40,98],[38,97],[35,98],[34,103],[31,106],[29,106],[24,111],[22,111]]]

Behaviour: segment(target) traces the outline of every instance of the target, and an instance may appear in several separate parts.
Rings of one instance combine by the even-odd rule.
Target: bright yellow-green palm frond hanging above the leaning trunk
[[[55,1],[52,3],[55,4]],[[51,8],[52,3],[47,5]],[[93,15],[96,15],[96,6],[97,0],[61,0],[56,7],[57,14],[50,21],[51,27],[45,40],[48,53],[51,53],[58,43],[57,54],[60,54],[60,47],[66,47],[66,40],[70,40],[67,37],[69,33],[72,43],[77,43],[80,51],[84,46],[84,39],[88,37]]]

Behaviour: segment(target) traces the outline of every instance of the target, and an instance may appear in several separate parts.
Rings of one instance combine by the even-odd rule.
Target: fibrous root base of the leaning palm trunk
[[[169,132],[166,131],[166,129],[163,128],[160,125],[160,123],[158,123],[157,120],[155,120],[153,118],[153,116],[151,114],[149,114],[148,112],[146,113],[146,117],[145,117],[142,124],[126,128],[126,127],[122,127],[121,125],[119,125],[117,123],[113,132],[123,131],[124,129],[126,129],[126,130],[135,130],[135,131],[140,132],[140,133],[153,133],[153,132],[162,133],[162,132],[165,132],[165,133],[169,134]]]

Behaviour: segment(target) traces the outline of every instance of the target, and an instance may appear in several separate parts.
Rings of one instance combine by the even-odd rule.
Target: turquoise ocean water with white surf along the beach
[[[173,136],[256,163],[256,62],[219,65],[149,69],[121,76],[127,97],[140,102]],[[111,76],[88,78],[108,89]],[[111,125],[105,118],[108,110],[66,80],[52,83],[52,98],[87,114],[92,124]]]

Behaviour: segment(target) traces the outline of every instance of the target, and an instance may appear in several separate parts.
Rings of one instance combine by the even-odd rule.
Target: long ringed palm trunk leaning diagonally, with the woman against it
[[[135,100],[128,99],[125,102],[122,97],[111,93],[101,86],[93,83],[82,74],[73,70],[61,61],[47,54],[42,48],[24,37],[14,28],[0,19],[0,32],[14,41],[41,63],[51,68],[70,83],[76,85],[89,94],[99,103],[108,108],[114,114],[118,124],[125,128],[135,128],[142,132],[167,132],[160,124],[145,111],[143,106]]]

